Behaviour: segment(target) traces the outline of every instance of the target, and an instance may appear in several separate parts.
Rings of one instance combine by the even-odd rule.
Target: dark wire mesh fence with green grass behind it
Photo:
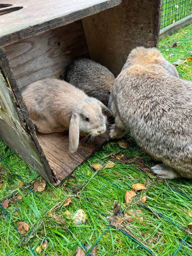
[[[162,0],[161,29],[192,14],[191,0]]]

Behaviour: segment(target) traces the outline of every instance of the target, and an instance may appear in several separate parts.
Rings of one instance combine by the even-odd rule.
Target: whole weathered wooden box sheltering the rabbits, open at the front
[[[0,0],[0,138],[58,185],[107,138],[68,153],[68,133],[36,134],[22,100],[26,85],[63,78],[87,57],[119,74],[136,46],[157,46],[161,0]]]

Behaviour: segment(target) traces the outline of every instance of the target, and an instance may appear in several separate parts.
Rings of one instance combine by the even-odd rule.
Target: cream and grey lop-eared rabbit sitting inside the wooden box
[[[32,122],[40,133],[69,130],[69,153],[74,153],[82,136],[106,131],[106,115],[111,111],[82,90],[58,79],[45,79],[22,91]]]

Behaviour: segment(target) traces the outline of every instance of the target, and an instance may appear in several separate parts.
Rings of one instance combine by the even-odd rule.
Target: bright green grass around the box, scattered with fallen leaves
[[[159,49],[171,63],[191,56],[188,54],[192,49],[191,29],[192,25],[159,42]],[[179,42],[178,47],[167,47],[175,42]],[[177,69],[181,77],[191,79],[191,62],[183,63]],[[152,255],[149,251],[158,256],[174,255],[187,236],[187,224],[192,222],[192,181],[169,181],[147,175],[146,170],[154,164],[153,159],[129,135],[123,139],[129,143],[129,148],[121,149],[119,140],[111,140],[79,166],[61,187],[47,184],[44,191],[35,193],[31,181],[38,175],[1,142],[1,157],[8,156],[1,161],[5,167],[0,167],[1,203],[8,198],[9,206],[0,210],[0,255],[11,252],[9,255],[13,256],[68,256],[76,254],[77,246],[84,248],[90,244],[96,244],[98,256]],[[119,154],[123,154],[123,157],[117,159]],[[96,172],[90,166],[93,163],[105,165],[109,160],[115,162],[111,169]],[[132,184],[137,182],[146,184],[147,190],[137,192],[127,207],[125,191],[131,190]],[[21,194],[23,198],[19,199]],[[144,195],[147,198],[145,204],[140,200]],[[65,206],[68,198],[71,203]],[[127,222],[122,213],[124,221],[121,230],[109,225],[115,200],[120,212],[140,210],[142,222],[138,218]],[[75,225],[65,213],[67,210],[73,215],[78,209],[84,210],[87,216],[86,223],[81,225]],[[19,235],[15,229],[20,221],[29,224],[29,232],[24,235]],[[37,246],[45,238],[48,242],[46,249],[42,253],[36,252]],[[191,245],[192,238],[189,235],[176,255],[191,255]]]

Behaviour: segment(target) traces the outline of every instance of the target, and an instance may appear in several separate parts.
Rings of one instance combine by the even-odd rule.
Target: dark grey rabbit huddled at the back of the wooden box
[[[78,58],[69,65],[65,80],[107,106],[115,77],[101,64]]]

